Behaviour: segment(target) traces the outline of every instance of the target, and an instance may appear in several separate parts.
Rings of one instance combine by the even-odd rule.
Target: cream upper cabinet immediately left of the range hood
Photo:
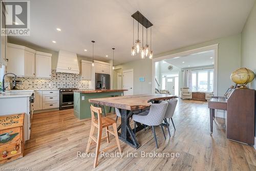
[[[45,52],[35,53],[35,77],[51,78],[52,54]]]

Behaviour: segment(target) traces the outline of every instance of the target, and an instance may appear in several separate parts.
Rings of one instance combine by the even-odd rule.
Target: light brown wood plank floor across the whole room
[[[115,115],[111,115],[115,118]],[[170,124],[171,137],[165,128],[166,140],[160,127],[156,128],[159,149],[151,129],[141,130],[136,137],[142,144],[136,150],[120,141],[123,158],[100,157],[95,170],[256,170],[256,153],[252,146],[226,139],[224,121],[216,118],[210,136],[209,111],[206,102],[179,100],[173,117],[176,131]],[[118,120],[117,125],[120,124]],[[133,125],[133,122],[131,123]],[[80,158],[89,139],[91,120],[78,120],[72,110],[34,114],[31,139],[25,145],[22,159],[1,165],[30,167],[32,170],[94,170],[94,157]],[[96,134],[96,131],[95,131]],[[110,135],[110,145],[115,144]],[[109,146],[102,140],[101,148]],[[95,153],[95,145],[90,152]],[[142,158],[127,153],[179,153],[168,157]],[[112,148],[109,153],[118,152]]]

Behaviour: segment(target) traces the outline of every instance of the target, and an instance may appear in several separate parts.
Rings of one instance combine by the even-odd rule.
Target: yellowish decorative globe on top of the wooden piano
[[[241,84],[242,88],[246,88],[245,85],[255,78],[255,74],[247,68],[240,68],[233,71],[230,78],[234,83]]]

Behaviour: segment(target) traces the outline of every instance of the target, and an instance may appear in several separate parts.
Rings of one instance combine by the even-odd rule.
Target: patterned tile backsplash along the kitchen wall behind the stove
[[[6,82],[11,82],[13,79],[13,77],[8,77]],[[56,70],[52,70],[51,79],[17,77],[16,80],[22,81],[22,83],[16,85],[16,88],[24,90],[59,88],[89,89],[89,80],[81,80],[79,74],[56,73]]]

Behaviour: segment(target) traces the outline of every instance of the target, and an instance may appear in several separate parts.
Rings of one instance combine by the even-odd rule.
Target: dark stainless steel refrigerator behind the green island
[[[110,75],[95,73],[95,89],[110,89]]]

